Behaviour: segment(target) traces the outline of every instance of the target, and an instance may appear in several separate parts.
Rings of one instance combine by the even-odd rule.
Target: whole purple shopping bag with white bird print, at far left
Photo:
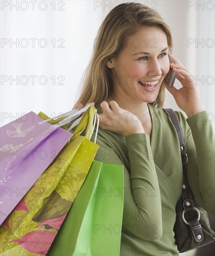
[[[29,112],[0,128],[0,224],[72,137],[42,120]]]

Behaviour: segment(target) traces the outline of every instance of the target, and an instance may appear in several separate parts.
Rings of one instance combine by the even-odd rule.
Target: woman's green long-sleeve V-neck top
[[[176,202],[182,194],[180,145],[163,109],[148,106],[151,139],[143,133],[124,137],[98,130],[99,149],[95,160],[124,165],[121,256],[178,255],[173,227]],[[101,108],[97,109],[101,113]],[[189,185],[202,208],[215,215],[215,143],[211,116],[207,111],[187,119],[181,112],[176,114],[187,147]]]

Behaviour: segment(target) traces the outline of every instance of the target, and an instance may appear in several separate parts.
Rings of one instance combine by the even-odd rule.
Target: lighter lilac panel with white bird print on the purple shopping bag
[[[11,175],[39,143],[55,132],[57,127],[50,129],[52,124],[48,122],[39,124],[42,120],[31,111],[0,128],[0,180]],[[62,133],[67,134],[65,130]]]

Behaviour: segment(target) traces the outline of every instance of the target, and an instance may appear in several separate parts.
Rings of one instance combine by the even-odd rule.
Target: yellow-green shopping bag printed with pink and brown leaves
[[[1,255],[46,255],[98,150],[89,140],[96,112],[87,109],[70,143],[0,226]]]

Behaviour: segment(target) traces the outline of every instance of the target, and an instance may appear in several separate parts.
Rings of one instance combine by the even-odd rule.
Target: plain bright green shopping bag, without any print
[[[116,256],[120,252],[124,167],[93,161],[47,256]]]

